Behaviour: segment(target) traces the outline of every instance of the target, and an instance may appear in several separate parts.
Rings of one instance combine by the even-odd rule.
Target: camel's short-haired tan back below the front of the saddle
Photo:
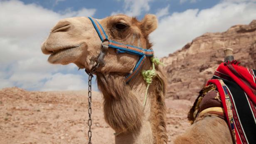
[[[197,117],[187,131],[178,136],[175,144],[233,144],[226,121],[213,115]]]

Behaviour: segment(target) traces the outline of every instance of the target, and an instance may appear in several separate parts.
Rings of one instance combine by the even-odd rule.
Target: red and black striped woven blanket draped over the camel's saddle
[[[221,63],[207,85],[217,86],[236,144],[256,144],[256,70]]]

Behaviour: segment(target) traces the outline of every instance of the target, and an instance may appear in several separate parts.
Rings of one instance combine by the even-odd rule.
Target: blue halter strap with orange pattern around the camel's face
[[[116,49],[117,54],[128,53],[128,54],[134,54],[134,55],[140,56],[139,61],[136,63],[136,66],[133,69],[133,72],[129,73],[128,76],[126,76],[126,83],[128,83],[136,74],[138,74],[138,71],[142,67],[146,59],[146,56],[154,56],[153,49],[142,49],[136,46],[121,44],[119,42],[109,40],[103,27],[101,27],[101,24],[92,17],[88,17],[88,18],[91,20],[92,24],[94,25],[94,28],[96,29],[96,32],[98,33],[98,36],[101,39],[101,42],[108,41],[108,47]]]

